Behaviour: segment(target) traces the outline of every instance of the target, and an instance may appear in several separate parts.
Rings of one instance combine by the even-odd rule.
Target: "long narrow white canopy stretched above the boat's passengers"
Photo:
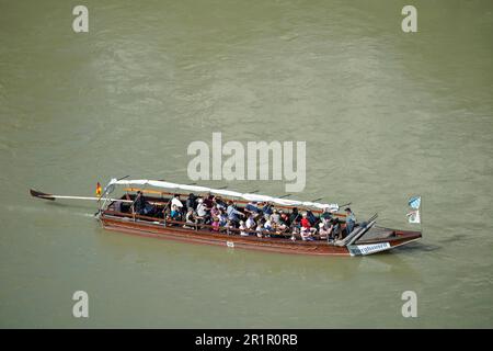
[[[297,200],[288,200],[288,199],[279,199],[272,197],[267,195],[260,194],[249,194],[249,193],[239,193],[236,191],[223,190],[223,189],[210,189],[206,186],[196,186],[196,185],[185,185],[185,184],[176,184],[158,180],[148,180],[148,179],[137,179],[137,180],[116,180],[112,179],[107,186],[111,185],[144,185],[144,186],[154,186],[154,188],[163,188],[163,189],[172,189],[172,190],[185,190],[187,192],[196,192],[196,193],[211,193],[230,197],[240,197],[246,201],[256,201],[256,202],[272,202],[277,205],[283,206],[302,206],[302,207],[314,207],[314,208],[329,208],[330,211],[337,211],[337,204],[321,204],[318,202],[310,201],[297,201]]]

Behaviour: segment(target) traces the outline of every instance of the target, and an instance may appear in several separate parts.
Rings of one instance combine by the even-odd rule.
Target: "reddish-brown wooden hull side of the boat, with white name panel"
[[[131,218],[108,216],[101,214],[102,226],[108,230],[116,230],[146,237],[157,237],[192,244],[215,245],[230,248],[253,249],[279,253],[312,254],[312,256],[366,256],[387,251],[394,247],[421,238],[419,231],[395,231],[395,237],[375,239],[360,245],[337,247],[325,241],[291,241],[280,238],[242,237],[239,235],[197,231],[182,226],[164,226],[159,222],[134,220]]]

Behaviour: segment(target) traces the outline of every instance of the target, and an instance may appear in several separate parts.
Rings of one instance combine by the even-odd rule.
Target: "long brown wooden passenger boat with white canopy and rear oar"
[[[124,193],[121,196],[111,196],[117,188],[123,190]],[[137,192],[146,195],[146,201],[154,208],[154,215],[146,216],[134,213],[133,205]],[[240,212],[244,212],[246,203],[252,201],[271,203],[275,208],[287,212],[297,207],[320,214],[322,210],[329,208],[332,216],[340,218],[344,228],[345,214],[339,212],[340,206],[337,204],[303,202],[164,181],[112,179],[104,188],[101,196],[98,197],[53,195],[35,190],[31,190],[31,195],[51,201],[56,199],[95,200],[99,203],[96,218],[108,230],[229,248],[317,256],[366,256],[387,251],[422,237],[421,231],[378,227],[376,226],[376,216],[357,224],[355,229],[344,239],[329,242],[326,240],[305,241],[301,240],[301,237],[291,233],[272,233],[267,237],[260,238],[252,231],[250,236],[241,236],[240,229],[237,228],[226,229],[221,227],[219,230],[214,230],[210,225],[186,224],[171,220],[163,215],[163,211],[170,207],[173,196],[179,194],[184,200],[191,192],[196,195],[213,194],[226,201],[233,201]]]

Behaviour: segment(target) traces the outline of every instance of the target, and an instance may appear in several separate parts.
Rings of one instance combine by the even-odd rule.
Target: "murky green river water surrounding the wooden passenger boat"
[[[493,2],[0,0],[0,326],[493,327]],[[318,258],[108,233],[112,177],[190,183],[187,146],[306,140],[295,199],[423,239]],[[285,181],[228,189],[283,195]],[[225,181],[205,181],[222,186]],[[89,318],[72,294],[89,294]],[[417,317],[404,318],[404,291]]]

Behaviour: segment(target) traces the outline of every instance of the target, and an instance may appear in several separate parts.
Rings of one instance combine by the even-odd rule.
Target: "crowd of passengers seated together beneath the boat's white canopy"
[[[174,222],[184,222],[184,227],[198,228],[207,226],[213,231],[240,234],[241,236],[287,237],[293,240],[328,240],[342,239],[352,233],[356,218],[351,208],[345,208],[345,226],[330,208],[324,208],[320,216],[311,211],[291,212],[275,208],[268,202],[249,202],[240,211],[232,201],[223,201],[219,196],[196,196],[191,193],[185,203],[175,194],[170,204],[170,211],[164,210],[164,216]]]

